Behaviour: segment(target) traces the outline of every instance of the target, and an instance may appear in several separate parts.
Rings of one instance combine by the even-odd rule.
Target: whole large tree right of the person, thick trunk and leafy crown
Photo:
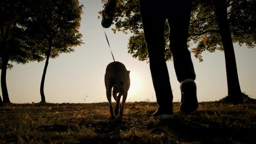
[[[192,49],[195,56],[202,60],[204,50],[215,52],[223,50],[226,63],[228,96],[221,101],[241,103],[247,95],[241,92],[236,68],[233,41],[240,46],[255,47],[255,16],[253,0],[201,0],[201,5],[192,15],[190,38],[198,45]],[[197,31],[197,32],[196,32]],[[193,33],[194,32],[194,33]]]

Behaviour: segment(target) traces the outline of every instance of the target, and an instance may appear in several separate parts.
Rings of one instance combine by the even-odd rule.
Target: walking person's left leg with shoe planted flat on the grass
[[[164,119],[160,115],[173,118],[171,84],[164,56],[164,25],[165,18],[157,3],[148,0],[140,0],[141,19],[143,23],[145,41],[147,43],[149,64],[158,111],[155,118]]]

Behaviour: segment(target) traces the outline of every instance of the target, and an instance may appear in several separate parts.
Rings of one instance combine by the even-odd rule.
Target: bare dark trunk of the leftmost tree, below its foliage
[[[9,61],[9,56],[2,57],[1,88],[2,88],[2,94],[3,94],[3,103],[11,103],[8,95],[7,84],[6,84],[6,72],[7,72],[8,61]]]

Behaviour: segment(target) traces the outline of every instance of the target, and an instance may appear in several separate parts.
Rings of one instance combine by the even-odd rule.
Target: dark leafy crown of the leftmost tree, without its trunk
[[[42,60],[33,47],[32,38],[26,35],[24,20],[28,18],[26,0],[3,0],[0,2],[0,62],[3,55],[10,57],[10,62],[25,64],[33,60]],[[28,41],[30,39],[30,42]],[[1,67],[2,65],[0,65]],[[8,68],[13,65],[8,64]]]

